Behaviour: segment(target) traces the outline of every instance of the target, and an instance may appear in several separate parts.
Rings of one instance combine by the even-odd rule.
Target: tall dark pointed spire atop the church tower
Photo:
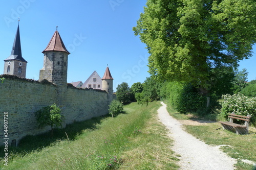
[[[22,57],[22,47],[20,45],[20,36],[19,36],[19,20],[18,20],[18,28],[17,28],[16,36],[12,46],[12,52],[11,52],[11,55],[7,59],[5,59],[5,61],[6,60],[19,60],[27,63],[27,61]]]

